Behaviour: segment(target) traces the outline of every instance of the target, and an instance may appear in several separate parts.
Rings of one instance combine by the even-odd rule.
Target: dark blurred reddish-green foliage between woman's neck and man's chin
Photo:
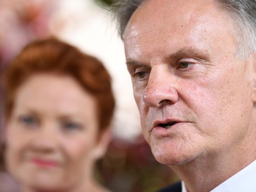
[[[155,160],[142,135],[132,143],[112,140],[105,157],[97,162],[95,176],[112,192],[155,192],[179,180]]]

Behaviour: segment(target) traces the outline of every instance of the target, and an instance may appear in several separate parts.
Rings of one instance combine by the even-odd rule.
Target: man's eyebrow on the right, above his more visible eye
[[[174,54],[171,54],[170,56],[168,56],[166,60],[179,59],[184,57],[195,58],[195,59],[203,60],[207,62],[210,61],[210,56],[207,50],[202,50],[194,47],[181,48]]]

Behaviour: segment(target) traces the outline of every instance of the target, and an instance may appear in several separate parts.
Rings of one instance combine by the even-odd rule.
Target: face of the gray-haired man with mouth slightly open
[[[252,119],[252,63],[212,0],[151,0],[124,34],[142,132],[168,165],[239,149]]]

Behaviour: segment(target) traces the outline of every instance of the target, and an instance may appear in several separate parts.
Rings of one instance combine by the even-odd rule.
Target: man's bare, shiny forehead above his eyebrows
[[[184,47],[207,50],[219,38],[234,43],[231,25],[213,0],[172,0],[172,4],[151,0],[142,4],[127,24],[126,56],[133,59],[148,54],[149,58],[159,52],[166,57]],[[215,47],[221,49],[219,43]]]

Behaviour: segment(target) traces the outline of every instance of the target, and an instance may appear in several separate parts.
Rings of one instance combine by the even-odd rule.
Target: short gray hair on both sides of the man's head
[[[114,12],[118,21],[121,38],[134,11],[146,0],[118,0]],[[235,23],[231,32],[236,37],[236,55],[240,59],[248,58],[256,52],[256,0],[217,0]]]

